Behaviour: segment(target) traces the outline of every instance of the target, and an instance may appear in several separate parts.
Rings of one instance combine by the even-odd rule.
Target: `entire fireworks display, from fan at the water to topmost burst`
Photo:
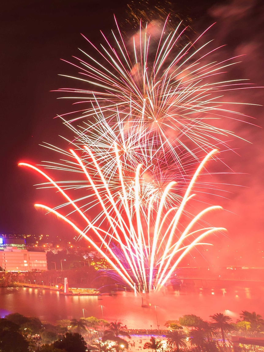
[[[42,187],[54,187],[66,199],[54,209],[36,206],[68,222],[128,286],[146,291],[161,288],[206,235],[224,230],[204,226],[205,215],[220,207],[197,215],[188,208],[206,161],[216,146],[228,149],[226,139],[234,136],[213,121],[241,115],[224,108],[220,96],[245,88],[241,82],[213,82],[231,61],[208,63],[212,51],[194,49],[197,40],[178,45],[180,26],[165,35],[162,27],[153,40],[149,29],[140,28],[130,49],[119,30],[118,36],[113,34],[114,45],[105,38],[107,48],[96,49],[100,61],[86,54],[93,64],[81,60],[83,76],[78,79],[95,90],[62,89],[90,104],[81,117],[65,121],[75,134],[73,149],[46,144],[63,160],[44,166],[70,171],[69,181],[54,182],[40,169],[21,163],[46,177]],[[74,127],[80,119],[86,121]],[[81,180],[73,181],[73,173]],[[72,199],[72,190],[81,195]],[[73,209],[62,214],[69,206]],[[84,230],[70,219],[73,213],[85,222]]]

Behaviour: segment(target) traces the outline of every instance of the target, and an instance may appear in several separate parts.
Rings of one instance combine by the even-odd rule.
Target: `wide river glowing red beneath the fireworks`
[[[264,316],[264,287],[191,288],[159,294],[119,292],[113,296],[64,296],[34,288],[0,288],[0,315],[18,312],[55,323],[60,319],[96,316],[119,320],[128,328],[160,328],[167,320],[195,314],[204,320],[225,313],[235,322],[241,310]],[[145,307],[142,307],[142,301]],[[150,305],[151,304],[151,305]],[[155,307],[156,306],[156,307]]]

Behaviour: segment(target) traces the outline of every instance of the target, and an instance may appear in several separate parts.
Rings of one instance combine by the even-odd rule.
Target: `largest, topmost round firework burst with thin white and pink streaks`
[[[164,31],[165,28],[166,24]],[[94,107],[70,121],[105,113],[107,125],[114,130],[119,111],[130,128],[140,126],[143,145],[148,145],[155,134],[157,143],[165,144],[175,160],[181,148],[195,156],[197,147],[209,151],[216,147],[215,144],[225,146],[225,137],[233,138],[234,133],[210,125],[210,120],[241,117],[241,113],[222,107],[227,103],[221,101],[221,96],[227,90],[249,87],[243,80],[213,82],[213,79],[235,64],[235,58],[221,62],[214,59],[208,63],[210,55],[219,48],[201,54],[209,44],[195,49],[194,44],[201,36],[181,48],[178,42],[184,30],[180,32],[180,25],[168,35],[164,35],[164,31],[157,44],[146,35],[147,25],[140,27],[139,44],[134,41],[131,53],[119,29],[119,37],[113,33],[114,44],[103,36],[107,46],[101,45],[101,49],[86,38],[101,56],[101,61],[82,51],[92,64],[78,59],[81,66],[74,66],[81,70],[84,78],[72,78],[92,85],[93,90],[65,88],[61,91],[78,93],[70,98],[92,102]],[[157,47],[154,54],[148,51],[150,45]],[[173,143],[168,138],[168,129],[176,134]],[[89,136],[90,141],[93,138]]]

